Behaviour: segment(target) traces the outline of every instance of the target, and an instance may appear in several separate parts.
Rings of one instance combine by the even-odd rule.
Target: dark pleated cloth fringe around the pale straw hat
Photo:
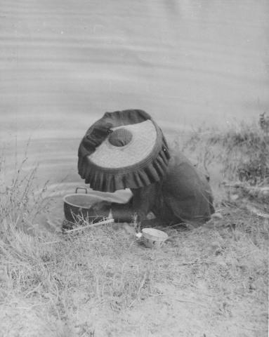
[[[143,160],[131,166],[122,168],[105,168],[86,158],[95,152],[96,147],[103,143],[110,133],[110,128],[137,124],[150,119],[143,110],[124,110],[122,112],[107,112],[88,129],[79,145],[78,169],[81,178],[90,184],[93,190],[114,192],[125,188],[136,189],[145,187],[161,180],[167,171],[169,150],[162,130],[155,124],[157,139],[152,152]]]

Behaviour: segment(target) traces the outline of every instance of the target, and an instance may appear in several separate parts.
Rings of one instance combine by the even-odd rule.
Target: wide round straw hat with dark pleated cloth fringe
[[[93,190],[114,192],[161,180],[170,156],[162,130],[143,110],[106,112],[79,145],[78,169]]]

